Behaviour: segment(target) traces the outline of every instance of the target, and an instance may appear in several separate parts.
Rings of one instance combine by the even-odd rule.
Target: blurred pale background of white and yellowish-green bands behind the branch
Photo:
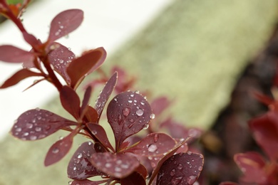
[[[188,126],[208,129],[229,102],[230,93],[242,70],[264,48],[271,36],[277,23],[278,1],[154,2],[157,4],[153,3],[151,8],[149,1],[106,0],[88,4],[88,1],[65,3],[61,0],[40,0],[26,10],[24,23],[29,25],[27,30],[38,38],[46,38],[47,26],[59,11],[83,9],[85,20],[81,28],[71,33],[69,38],[61,39],[61,43],[69,45],[76,54],[104,46],[108,51],[108,60],[103,70],[109,71],[111,66],[120,65],[138,78],[138,90],[149,90],[153,97],[167,95],[174,100],[175,104],[169,111],[176,120]],[[103,27],[97,27],[97,23]],[[4,31],[6,26],[8,31]],[[13,31],[16,31],[14,26],[2,23],[0,44],[9,43],[28,49],[28,46],[18,42],[22,39],[20,34]],[[6,71],[15,68],[19,66],[1,66],[0,73],[6,76],[1,75],[0,82],[8,78]],[[30,81],[27,80],[19,84],[17,90],[24,90],[28,83]],[[20,115],[20,112],[13,111],[18,105],[23,105],[21,112],[36,106],[61,112],[55,89],[46,91],[51,88],[48,85],[35,87],[36,103],[31,102],[35,99],[34,95],[31,99],[24,98],[25,93],[21,92],[11,95],[16,90],[14,88],[5,90],[8,94],[1,94],[4,91],[0,91],[0,120],[8,113],[11,119],[1,121],[1,128],[9,132],[10,126],[2,125],[12,125],[12,120]],[[97,94],[93,94],[95,99]],[[26,102],[20,102],[21,99]],[[41,99],[44,101],[38,102]],[[8,113],[3,113],[4,110]],[[61,114],[66,116],[64,112]],[[74,141],[71,154],[61,162],[47,168],[43,166],[48,148],[65,134],[58,132],[36,142],[21,142],[2,134],[0,184],[67,184],[67,162],[83,138]]]

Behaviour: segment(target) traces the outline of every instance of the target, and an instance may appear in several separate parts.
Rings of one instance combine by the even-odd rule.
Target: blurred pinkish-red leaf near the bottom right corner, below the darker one
[[[248,183],[265,184],[267,174],[264,172],[264,159],[257,152],[235,154],[234,160],[244,173],[241,180]]]

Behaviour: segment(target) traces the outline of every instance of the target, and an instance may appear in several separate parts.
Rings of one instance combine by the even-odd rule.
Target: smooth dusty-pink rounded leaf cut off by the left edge
[[[0,60],[7,63],[31,62],[35,58],[34,53],[21,50],[15,46],[0,46]]]

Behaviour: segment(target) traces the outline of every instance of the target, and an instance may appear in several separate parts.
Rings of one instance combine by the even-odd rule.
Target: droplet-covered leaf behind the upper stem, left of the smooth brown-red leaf
[[[53,65],[54,70],[63,77],[66,83],[70,84],[71,79],[66,73],[66,68],[68,67],[68,64],[71,63],[71,60],[75,58],[75,54],[66,46],[61,45],[61,43],[54,42],[49,48],[54,48],[48,53],[49,62]]]

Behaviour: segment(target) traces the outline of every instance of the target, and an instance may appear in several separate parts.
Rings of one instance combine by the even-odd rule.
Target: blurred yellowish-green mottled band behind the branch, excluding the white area
[[[176,120],[209,128],[247,62],[256,56],[277,23],[277,0],[173,1],[147,28],[103,65],[120,65],[138,77],[138,90],[168,95]],[[28,11],[28,10],[27,10]],[[46,15],[47,16],[47,15]],[[109,53],[108,53],[109,54]],[[56,98],[46,109],[59,112]],[[6,137],[0,144],[0,184],[67,184],[67,162],[44,167],[51,143],[62,132],[36,142]]]

